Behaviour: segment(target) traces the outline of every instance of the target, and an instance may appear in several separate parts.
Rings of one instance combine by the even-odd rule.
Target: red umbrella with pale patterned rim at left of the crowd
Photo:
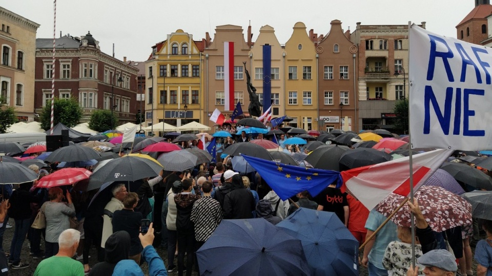
[[[72,185],[75,182],[89,178],[92,173],[84,168],[65,168],[50,173],[39,179],[36,188],[52,188]]]

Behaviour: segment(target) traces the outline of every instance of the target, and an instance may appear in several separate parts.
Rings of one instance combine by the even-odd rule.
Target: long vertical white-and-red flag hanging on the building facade
[[[224,41],[224,110],[234,110],[234,42]]]

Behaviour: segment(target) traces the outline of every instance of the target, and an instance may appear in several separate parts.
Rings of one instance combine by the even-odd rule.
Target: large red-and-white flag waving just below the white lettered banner
[[[441,167],[454,150],[437,149],[413,155],[414,193]],[[341,172],[343,186],[372,210],[389,194],[410,194],[409,157]]]

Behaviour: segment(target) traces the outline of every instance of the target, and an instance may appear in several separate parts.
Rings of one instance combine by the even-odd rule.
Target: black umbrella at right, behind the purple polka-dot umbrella
[[[485,189],[487,191],[492,190],[492,178],[486,175],[482,171],[470,167],[466,164],[449,162],[444,163],[441,169],[448,172],[456,180],[461,181],[469,186]]]

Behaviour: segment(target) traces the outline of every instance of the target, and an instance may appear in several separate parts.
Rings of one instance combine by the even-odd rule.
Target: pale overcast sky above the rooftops
[[[60,31],[78,37],[90,31],[106,54],[112,54],[114,43],[116,58],[143,61],[152,45],[177,29],[192,34],[194,40],[201,40],[206,32],[213,39],[220,25],[242,26],[246,34],[250,20],[253,41],[261,26],[270,25],[282,44],[298,21],[319,35],[330,31],[334,19],[351,32],[356,22],[406,25],[426,21],[427,30],[456,37],[456,25],[474,5],[473,0],[58,0],[56,37]],[[40,24],[37,38],[53,37],[52,0],[0,0],[0,6]]]

